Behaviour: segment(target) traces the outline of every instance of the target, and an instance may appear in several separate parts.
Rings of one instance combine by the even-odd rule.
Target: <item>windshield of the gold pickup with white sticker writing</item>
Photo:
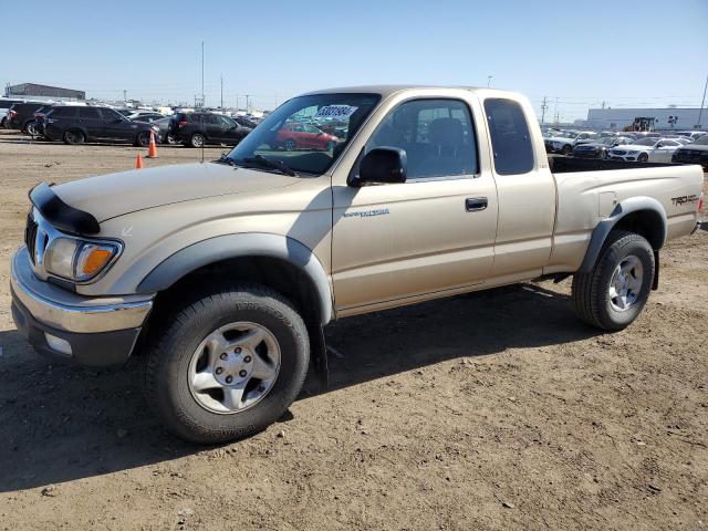
[[[266,158],[293,171],[322,174],[376,106],[378,94],[313,94],[273,111],[229,153],[239,165]]]

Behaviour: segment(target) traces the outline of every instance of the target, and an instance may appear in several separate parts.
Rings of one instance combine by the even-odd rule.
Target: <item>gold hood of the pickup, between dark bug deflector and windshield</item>
[[[52,187],[65,204],[98,222],[146,208],[227,194],[249,194],[294,185],[301,179],[216,163],[136,169]]]

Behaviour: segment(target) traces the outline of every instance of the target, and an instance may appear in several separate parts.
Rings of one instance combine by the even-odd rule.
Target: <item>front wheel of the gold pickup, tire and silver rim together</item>
[[[251,436],[295,399],[308,372],[308,330],[259,285],[198,296],[165,321],[146,360],[148,404],[175,435],[200,444]]]

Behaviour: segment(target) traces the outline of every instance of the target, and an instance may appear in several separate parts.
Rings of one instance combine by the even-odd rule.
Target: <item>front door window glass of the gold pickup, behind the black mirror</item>
[[[414,100],[400,104],[366,144],[406,152],[408,180],[473,176],[477,140],[467,104],[459,100]]]

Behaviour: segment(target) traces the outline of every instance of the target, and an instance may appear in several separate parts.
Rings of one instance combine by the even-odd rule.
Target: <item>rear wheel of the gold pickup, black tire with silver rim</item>
[[[621,268],[628,273],[624,278],[632,287],[624,300],[613,295],[623,293],[616,288],[623,284],[623,277],[617,275]],[[627,327],[649,298],[654,271],[654,251],[648,241],[634,232],[610,232],[593,270],[573,277],[575,313],[581,321],[607,332]]]

